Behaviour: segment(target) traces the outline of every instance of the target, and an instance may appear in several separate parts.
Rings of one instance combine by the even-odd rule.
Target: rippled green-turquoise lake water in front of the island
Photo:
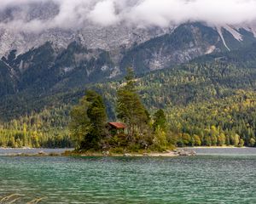
[[[256,203],[256,149],[195,150],[173,158],[0,156],[0,203],[12,194],[20,199],[13,203]]]

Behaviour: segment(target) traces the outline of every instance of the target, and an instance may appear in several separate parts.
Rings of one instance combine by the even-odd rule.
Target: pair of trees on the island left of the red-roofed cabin
[[[106,135],[106,107],[102,96],[88,90],[71,112],[70,132],[77,149],[99,150]]]

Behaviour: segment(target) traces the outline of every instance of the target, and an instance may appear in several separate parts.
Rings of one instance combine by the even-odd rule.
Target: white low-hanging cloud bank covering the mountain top
[[[52,5],[57,11],[49,18],[30,17],[38,3],[44,5],[43,15]],[[256,0],[1,0],[0,14],[9,14],[8,9],[15,11],[0,19],[0,27],[20,31],[80,29],[88,24],[168,27],[188,21],[222,26],[256,20]]]

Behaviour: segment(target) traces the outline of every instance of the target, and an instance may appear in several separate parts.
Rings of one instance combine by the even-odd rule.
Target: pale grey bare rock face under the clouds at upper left
[[[144,29],[122,24],[99,26],[86,22],[86,26],[82,27],[62,25],[61,28],[48,27],[38,31],[24,23],[24,21],[33,22],[33,20],[52,20],[58,12],[60,12],[58,5],[51,1],[0,9],[0,56],[9,54],[9,51],[13,49],[17,50],[18,54],[24,54],[29,49],[38,48],[45,42],[52,42],[55,48],[67,48],[69,43],[77,39],[87,48],[105,50],[119,47],[129,48],[134,42],[146,42],[173,30],[172,27]],[[7,23],[9,21],[11,23]],[[24,28],[24,26],[27,27]]]

